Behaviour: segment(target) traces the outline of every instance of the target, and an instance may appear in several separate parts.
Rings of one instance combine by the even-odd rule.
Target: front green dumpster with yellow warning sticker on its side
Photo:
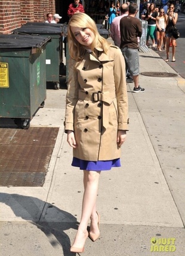
[[[28,129],[46,99],[46,45],[50,37],[0,35],[0,117]]]

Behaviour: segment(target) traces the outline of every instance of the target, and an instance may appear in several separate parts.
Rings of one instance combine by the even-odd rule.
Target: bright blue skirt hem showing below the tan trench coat
[[[73,157],[72,166],[81,170],[110,170],[112,167],[121,167],[120,159],[106,161],[87,161]]]

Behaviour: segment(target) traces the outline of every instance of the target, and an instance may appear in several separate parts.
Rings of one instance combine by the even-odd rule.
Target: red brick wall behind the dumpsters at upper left
[[[0,0],[0,33],[12,33],[26,22],[44,22],[55,13],[55,0]]]

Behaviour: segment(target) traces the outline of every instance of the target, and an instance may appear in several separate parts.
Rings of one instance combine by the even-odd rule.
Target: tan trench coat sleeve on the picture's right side
[[[115,50],[114,77],[118,103],[118,130],[128,130],[128,95],[125,59],[119,48]]]

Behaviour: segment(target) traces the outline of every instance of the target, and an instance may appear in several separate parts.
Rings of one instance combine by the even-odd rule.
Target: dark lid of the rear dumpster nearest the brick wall
[[[29,35],[45,35],[45,34],[50,34],[50,35],[61,35],[62,28],[58,26],[52,26],[51,25],[23,25],[21,28],[15,29],[14,33],[27,33]]]

